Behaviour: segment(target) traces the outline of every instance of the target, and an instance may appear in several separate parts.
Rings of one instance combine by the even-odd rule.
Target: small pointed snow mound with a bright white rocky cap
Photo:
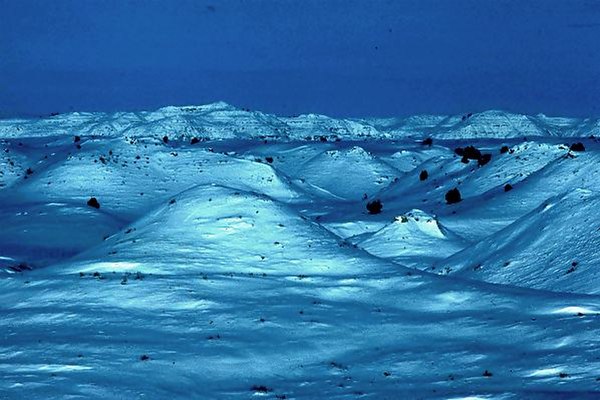
[[[354,240],[369,253],[400,264],[425,269],[434,260],[460,251],[465,242],[421,210],[411,210],[373,234]]]

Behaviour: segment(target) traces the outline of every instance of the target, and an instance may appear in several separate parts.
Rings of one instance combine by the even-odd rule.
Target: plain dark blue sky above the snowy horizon
[[[0,0],[0,116],[600,115],[595,0]]]

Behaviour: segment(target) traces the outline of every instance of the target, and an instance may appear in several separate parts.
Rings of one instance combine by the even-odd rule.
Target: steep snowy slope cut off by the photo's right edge
[[[580,189],[549,199],[435,269],[493,283],[600,293],[597,193]]]

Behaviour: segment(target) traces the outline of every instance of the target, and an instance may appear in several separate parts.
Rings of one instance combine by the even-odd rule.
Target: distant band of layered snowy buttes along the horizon
[[[224,102],[140,112],[71,112],[0,120],[0,137],[95,135],[170,138],[336,140],[424,138],[587,137],[600,118],[560,118],[484,111],[457,116],[336,119],[318,114],[278,117]]]

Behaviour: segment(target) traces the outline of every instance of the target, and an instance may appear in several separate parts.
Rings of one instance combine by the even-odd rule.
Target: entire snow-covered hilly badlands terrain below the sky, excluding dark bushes
[[[599,398],[599,134],[225,103],[0,121],[0,399]]]

